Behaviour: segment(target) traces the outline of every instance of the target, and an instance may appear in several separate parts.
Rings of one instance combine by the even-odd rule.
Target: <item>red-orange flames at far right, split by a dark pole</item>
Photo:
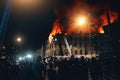
[[[109,17],[110,17],[110,23],[113,23],[118,19],[118,14],[115,13],[115,12],[109,11]],[[106,12],[100,16],[100,19],[102,20],[102,25],[101,26],[108,25]]]

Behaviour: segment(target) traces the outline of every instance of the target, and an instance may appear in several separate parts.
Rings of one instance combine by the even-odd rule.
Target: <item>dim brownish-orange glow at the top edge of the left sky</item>
[[[18,14],[23,14],[25,16],[35,15],[37,14],[38,10],[42,10],[41,7],[44,4],[44,0],[11,0],[12,6],[14,7],[13,10]]]

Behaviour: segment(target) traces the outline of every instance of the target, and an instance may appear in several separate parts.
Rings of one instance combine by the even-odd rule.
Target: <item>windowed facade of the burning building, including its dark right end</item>
[[[111,53],[111,45],[109,41],[109,36],[107,34],[95,34],[92,36],[83,34],[72,34],[66,36],[67,41],[70,45],[72,54],[104,54]],[[61,45],[63,53],[68,52],[64,39],[61,38]],[[43,54],[43,49],[39,50],[39,54]],[[60,48],[57,39],[53,40],[51,43],[46,41],[45,44],[45,56],[59,56]]]

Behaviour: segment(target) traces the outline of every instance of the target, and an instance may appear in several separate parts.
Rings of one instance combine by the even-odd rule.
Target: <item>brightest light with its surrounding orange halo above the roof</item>
[[[84,13],[84,14],[83,14]],[[89,32],[89,17],[85,12],[74,15],[73,22],[69,25],[67,33],[88,33]]]

